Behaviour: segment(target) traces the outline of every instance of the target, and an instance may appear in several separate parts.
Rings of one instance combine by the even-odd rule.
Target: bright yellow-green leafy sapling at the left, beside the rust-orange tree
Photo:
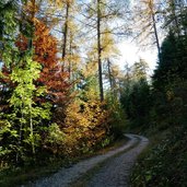
[[[16,60],[14,58],[14,61]],[[4,142],[4,149],[11,150],[9,153],[16,155],[16,160],[25,160],[27,153],[36,153],[36,148],[42,143],[43,129],[39,126],[44,119],[50,119],[50,105],[44,103],[37,106],[34,102],[36,95],[40,96],[42,90],[44,91],[42,89],[37,92],[34,84],[34,81],[39,78],[39,69],[40,66],[32,60],[32,56],[25,54],[21,62],[17,60],[17,66],[12,68],[10,74],[15,86],[9,100],[12,110],[10,114],[2,114],[2,119],[9,122],[1,127],[1,141]]]

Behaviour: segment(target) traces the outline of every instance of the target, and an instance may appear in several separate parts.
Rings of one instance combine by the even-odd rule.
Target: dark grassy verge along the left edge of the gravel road
[[[110,150],[115,150],[127,142],[127,138],[119,138],[106,148],[100,149],[93,153],[87,153],[79,157],[71,159],[54,159],[46,165],[31,165],[25,167],[12,167],[0,171],[0,187],[16,187],[30,184],[38,178],[47,177],[61,167],[70,167],[72,164],[81,160],[85,160],[98,154],[105,154]]]

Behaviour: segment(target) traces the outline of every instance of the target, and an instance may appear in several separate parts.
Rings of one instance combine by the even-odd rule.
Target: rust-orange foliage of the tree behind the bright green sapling
[[[68,72],[62,72],[57,57],[57,39],[51,36],[50,30],[35,19],[33,47],[34,60],[42,65],[38,85],[47,87],[47,98],[54,104],[65,104],[70,84],[68,83]],[[16,42],[20,50],[26,50],[28,40],[21,35]]]

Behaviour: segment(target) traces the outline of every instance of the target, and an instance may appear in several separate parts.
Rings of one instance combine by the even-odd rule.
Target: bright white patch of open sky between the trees
[[[118,44],[118,48],[120,51],[120,56],[116,62],[121,69],[124,69],[127,62],[131,66],[136,61],[139,61],[140,58],[144,59],[148,62],[150,73],[152,73],[152,71],[155,69],[157,61],[156,48],[141,50],[141,47],[131,40],[125,40]]]

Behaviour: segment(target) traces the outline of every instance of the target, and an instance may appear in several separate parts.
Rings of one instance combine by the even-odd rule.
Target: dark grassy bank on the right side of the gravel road
[[[151,133],[150,145],[132,171],[131,187],[187,186],[186,135],[184,127]]]

